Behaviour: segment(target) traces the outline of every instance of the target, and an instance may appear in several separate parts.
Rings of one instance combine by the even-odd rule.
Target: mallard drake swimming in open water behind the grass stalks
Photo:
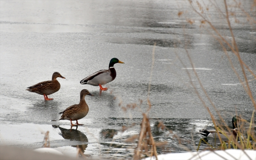
[[[239,120],[241,120],[241,117],[239,117],[239,116],[234,116],[232,118],[232,125],[233,125],[232,133],[233,133],[233,135],[235,137],[237,135],[237,131],[236,131],[237,130],[237,122]],[[202,129],[202,130],[199,131],[199,133],[204,135],[204,136],[206,136],[206,137],[208,137],[208,138],[219,138],[216,130],[204,130],[204,129]],[[225,132],[227,137],[224,136],[224,134],[221,134],[221,132],[219,132],[219,134],[220,134],[221,138],[228,138],[228,137],[231,136],[231,134],[229,132]]]

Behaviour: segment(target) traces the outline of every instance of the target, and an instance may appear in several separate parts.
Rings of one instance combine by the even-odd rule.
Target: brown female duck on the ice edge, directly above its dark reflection
[[[80,103],[78,105],[72,105],[63,112],[60,112],[59,114],[62,114],[62,116],[59,120],[70,120],[72,126],[74,126],[72,121],[76,121],[76,125],[82,125],[79,124],[77,120],[84,118],[89,112],[89,107],[84,99],[86,95],[93,96],[88,90],[83,89],[80,92]]]

